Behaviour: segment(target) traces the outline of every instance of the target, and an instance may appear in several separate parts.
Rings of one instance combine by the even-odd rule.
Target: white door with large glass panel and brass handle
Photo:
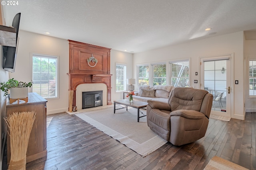
[[[201,89],[213,95],[211,114],[231,117],[231,55],[201,59]]]

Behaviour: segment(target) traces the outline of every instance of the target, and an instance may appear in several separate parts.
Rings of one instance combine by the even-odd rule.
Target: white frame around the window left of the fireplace
[[[43,97],[43,98],[45,98],[45,99],[47,99],[47,100],[49,100],[49,99],[58,99],[59,98],[59,94],[60,94],[60,86],[59,86],[59,79],[60,79],[60,76],[59,76],[59,62],[60,62],[60,57],[59,56],[57,56],[57,55],[47,55],[47,54],[38,54],[38,53],[32,53],[32,55],[31,55],[31,65],[32,65],[32,68],[31,68],[31,73],[32,73],[32,76],[31,76],[31,79],[33,80],[33,57],[40,57],[40,58],[46,58],[46,59],[56,59],[56,95],[55,95],[55,97],[49,97],[49,93],[48,93],[48,97]],[[49,72],[48,72],[49,73]],[[40,80],[41,81],[41,80]],[[34,80],[33,80],[33,82],[34,82]],[[49,82],[49,80],[48,80],[48,82]],[[34,86],[34,84],[33,84],[33,86]],[[33,88],[33,86],[32,86],[32,92],[34,92],[34,88]],[[41,88],[40,88],[40,90],[41,90]],[[40,95],[40,94],[39,94]]]

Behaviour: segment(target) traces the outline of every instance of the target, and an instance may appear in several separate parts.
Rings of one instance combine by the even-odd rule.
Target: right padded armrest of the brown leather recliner
[[[180,109],[172,111],[170,116],[181,116],[187,119],[203,119],[205,115],[200,111]]]

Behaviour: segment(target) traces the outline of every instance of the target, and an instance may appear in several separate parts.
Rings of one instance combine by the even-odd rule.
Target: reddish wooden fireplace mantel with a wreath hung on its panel
[[[69,41],[69,111],[76,106],[76,87],[84,83],[104,83],[107,86],[107,104],[111,105],[110,50],[77,41]],[[96,62],[88,62],[93,57]]]

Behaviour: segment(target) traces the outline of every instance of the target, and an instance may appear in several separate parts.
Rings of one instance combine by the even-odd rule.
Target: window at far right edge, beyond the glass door
[[[256,60],[249,61],[249,96],[256,96]]]

